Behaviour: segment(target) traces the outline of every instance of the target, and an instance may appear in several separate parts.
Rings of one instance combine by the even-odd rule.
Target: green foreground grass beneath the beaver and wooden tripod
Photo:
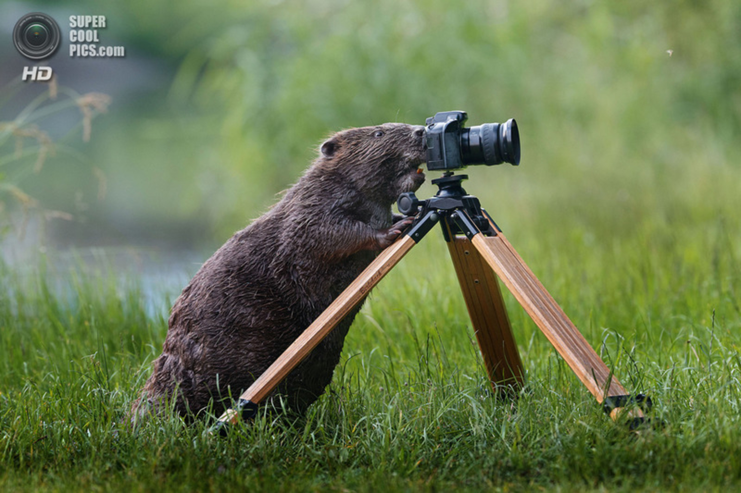
[[[10,289],[0,306],[0,486],[707,491],[740,483],[741,286],[728,221],[705,235],[680,227],[683,241],[637,228],[599,247],[575,241],[578,231],[528,239],[523,229],[513,227],[511,241],[521,240],[525,260],[622,383],[652,396],[663,427],[631,434],[609,420],[511,295],[527,383],[516,401],[494,398],[432,232],[373,292],[308,415],[262,415],[227,438],[174,417],[132,431],[122,417],[159,354],[166,314],[147,311],[136,282],[110,268],[54,272],[41,262],[1,274]]]

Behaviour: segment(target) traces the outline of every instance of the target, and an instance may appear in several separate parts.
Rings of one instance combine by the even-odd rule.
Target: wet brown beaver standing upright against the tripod
[[[265,215],[236,232],[175,301],[162,355],[130,410],[170,402],[193,417],[221,413],[390,245],[412,218],[399,194],[425,181],[425,127],[343,130]],[[362,304],[362,303],[361,303]],[[330,383],[353,312],[299,363],[272,397],[304,412]]]

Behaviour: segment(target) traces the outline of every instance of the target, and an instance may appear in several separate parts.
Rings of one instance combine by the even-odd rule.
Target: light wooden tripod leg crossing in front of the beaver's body
[[[296,365],[306,358],[312,349],[322,341],[332,329],[340,322],[355,306],[360,303],[368,292],[373,289],[381,279],[402,260],[416,242],[408,235],[402,235],[391,246],[384,249],[376,259],[341,292],[330,306],[319,315],[307,329],[293,341],[288,349],[275,360],[275,362],[257,378],[239,397],[239,406],[250,406],[256,408],[256,404],[262,402],[273,389],[278,386],[288,374],[296,368]],[[239,411],[227,409],[219,417],[218,428],[223,423],[236,423],[239,420]]]

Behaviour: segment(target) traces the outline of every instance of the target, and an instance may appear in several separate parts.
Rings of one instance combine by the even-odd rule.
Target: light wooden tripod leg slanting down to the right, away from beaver
[[[494,226],[496,228],[496,226]],[[605,362],[594,352],[574,323],[568,319],[553,297],[528,268],[505,235],[476,234],[471,239],[482,258],[512,292],[539,329],[576,373],[589,392],[602,403],[605,398],[625,397],[628,392],[614,378]],[[622,399],[616,399],[622,402]],[[619,408],[611,410],[616,418]],[[631,417],[641,418],[640,409],[631,410]]]

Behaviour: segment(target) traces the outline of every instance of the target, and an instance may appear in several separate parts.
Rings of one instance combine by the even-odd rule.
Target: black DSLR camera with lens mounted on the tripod
[[[442,111],[427,119],[428,170],[458,170],[469,164],[519,164],[519,132],[514,118],[503,124],[464,128],[465,111]]]

